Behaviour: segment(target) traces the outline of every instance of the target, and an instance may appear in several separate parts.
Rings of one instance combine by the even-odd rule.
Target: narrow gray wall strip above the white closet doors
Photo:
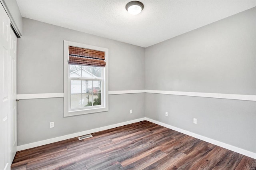
[[[22,36],[22,16],[16,0],[0,0],[0,2],[6,6],[14,29]]]

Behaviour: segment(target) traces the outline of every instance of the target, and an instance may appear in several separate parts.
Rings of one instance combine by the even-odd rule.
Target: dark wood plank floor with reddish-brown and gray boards
[[[17,152],[12,170],[256,170],[256,160],[148,121]]]

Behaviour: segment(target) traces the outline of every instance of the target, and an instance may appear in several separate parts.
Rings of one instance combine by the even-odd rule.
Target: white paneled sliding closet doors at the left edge
[[[0,170],[10,169],[12,156],[16,152],[16,104],[13,103],[14,97],[16,98],[14,41],[16,43],[11,34],[10,19],[0,4]]]

